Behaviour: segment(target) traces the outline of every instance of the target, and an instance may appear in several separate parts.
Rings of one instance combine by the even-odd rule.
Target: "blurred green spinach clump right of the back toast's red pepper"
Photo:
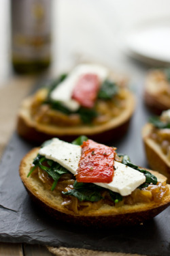
[[[105,80],[99,90],[98,98],[103,100],[111,100],[114,95],[118,94],[118,85],[116,83]]]

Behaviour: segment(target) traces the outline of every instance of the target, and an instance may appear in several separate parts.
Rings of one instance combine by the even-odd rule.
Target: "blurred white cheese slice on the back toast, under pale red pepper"
[[[76,82],[82,76],[82,74],[97,74],[99,80],[103,81],[107,78],[108,70],[103,66],[98,66],[94,64],[82,64],[77,66],[67,78],[61,82],[50,94],[52,100],[58,100],[63,105],[67,106],[71,111],[76,111],[80,107],[80,104],[75,100],[71,99],[73,88]]]

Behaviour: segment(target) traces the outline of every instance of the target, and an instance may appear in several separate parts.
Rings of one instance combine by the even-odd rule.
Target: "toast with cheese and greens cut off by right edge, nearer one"
[[[150,118],[142,137],[150,167],[163,173],[170,182],[170,109]]]

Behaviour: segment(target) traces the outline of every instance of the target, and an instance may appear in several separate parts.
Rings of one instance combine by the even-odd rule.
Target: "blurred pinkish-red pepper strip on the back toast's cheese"
[[[78,79],[73,89],[72,98],[88,109],[91,109],[99,91],[99,77],[96,74],[84,74]]]

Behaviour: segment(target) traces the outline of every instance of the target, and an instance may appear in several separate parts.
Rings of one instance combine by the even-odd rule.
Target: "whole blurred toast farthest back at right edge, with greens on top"
[[[151,70],[148,73],[144,99],[151,111],[158,115],[170,109],[170,69]]]

